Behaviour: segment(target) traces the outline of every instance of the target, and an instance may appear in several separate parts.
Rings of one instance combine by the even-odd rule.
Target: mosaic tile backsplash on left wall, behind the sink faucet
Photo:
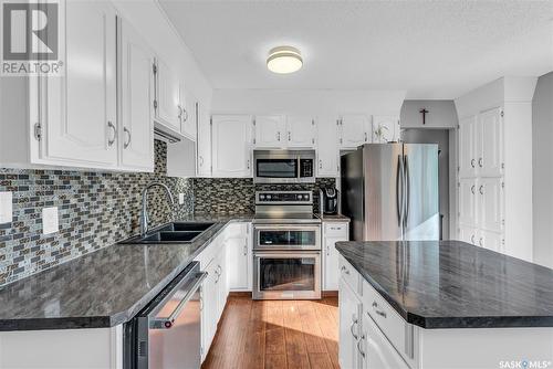
[[[152,189],[152,225],[190,213],[190,180],[168,178],[166,144],[156,140],[155,150],[154,173],[0,168],[0,191],[13,192],[13,221],[0,224],[0,286],[137,233],[142,190],[152,181],[186,199],[171,209],[165,193]],[[58,207],[60,232],[42,234],[45,207]]]

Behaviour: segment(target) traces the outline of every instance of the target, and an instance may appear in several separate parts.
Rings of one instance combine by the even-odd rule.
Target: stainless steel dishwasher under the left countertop
[[[192,262],[125,325],[126,369],[200,367],[200,287],[206,276]]]

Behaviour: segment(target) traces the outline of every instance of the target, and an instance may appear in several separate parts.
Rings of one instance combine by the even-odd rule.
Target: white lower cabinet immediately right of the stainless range
[[[336,242],[348,241],[348,223],[323,223],[323,291],[337,291],[340,281],[340,253]]]

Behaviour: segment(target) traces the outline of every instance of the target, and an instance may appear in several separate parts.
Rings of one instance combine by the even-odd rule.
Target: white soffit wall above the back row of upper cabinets
[[[399,115],[405,91],[216,89],[212,113]]]

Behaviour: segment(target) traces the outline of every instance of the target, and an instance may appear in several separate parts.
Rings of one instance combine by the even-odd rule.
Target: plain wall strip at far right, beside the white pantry
[[[538,80],[532,139],[534,262],[553,267],[553,72]]]

